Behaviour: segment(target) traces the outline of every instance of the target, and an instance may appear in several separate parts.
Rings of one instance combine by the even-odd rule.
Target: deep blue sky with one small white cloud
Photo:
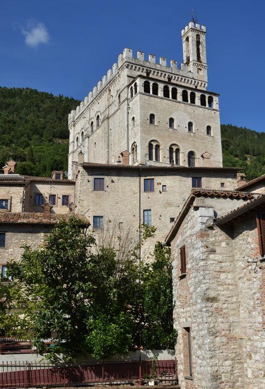
[[[124,47],[182,61],[194,10],[207,28],[208,89],[221,123],[264,127],[265,3],[161,0],[1,1],[0,86],[83,99]]]

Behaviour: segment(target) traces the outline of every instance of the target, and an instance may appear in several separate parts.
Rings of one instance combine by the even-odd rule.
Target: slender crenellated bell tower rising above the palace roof
[[[195,79],[207,82],[206,27],[190,22],[182,30],[183,62]]]

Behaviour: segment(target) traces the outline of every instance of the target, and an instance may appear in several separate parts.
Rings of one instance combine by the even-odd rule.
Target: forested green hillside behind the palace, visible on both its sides
[[[0,88],[0,168],[12,156],[18,173],[67,170],[68,113],[78,100],[30,88]],[[253,179],[265,173],[265,133],[221,126],[223,161]]]

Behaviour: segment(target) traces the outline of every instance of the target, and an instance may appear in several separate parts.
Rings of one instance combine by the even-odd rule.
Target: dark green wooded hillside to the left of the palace
[[[12,155],[21,174],[67,170],[68,113],[78,104],[35,89],[0,88],[0,168]]]

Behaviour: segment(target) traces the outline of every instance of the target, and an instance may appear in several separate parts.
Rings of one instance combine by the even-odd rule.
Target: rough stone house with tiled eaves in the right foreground
[[[265,387],[265,196],[193,189],[166,244],[182,389]]]

